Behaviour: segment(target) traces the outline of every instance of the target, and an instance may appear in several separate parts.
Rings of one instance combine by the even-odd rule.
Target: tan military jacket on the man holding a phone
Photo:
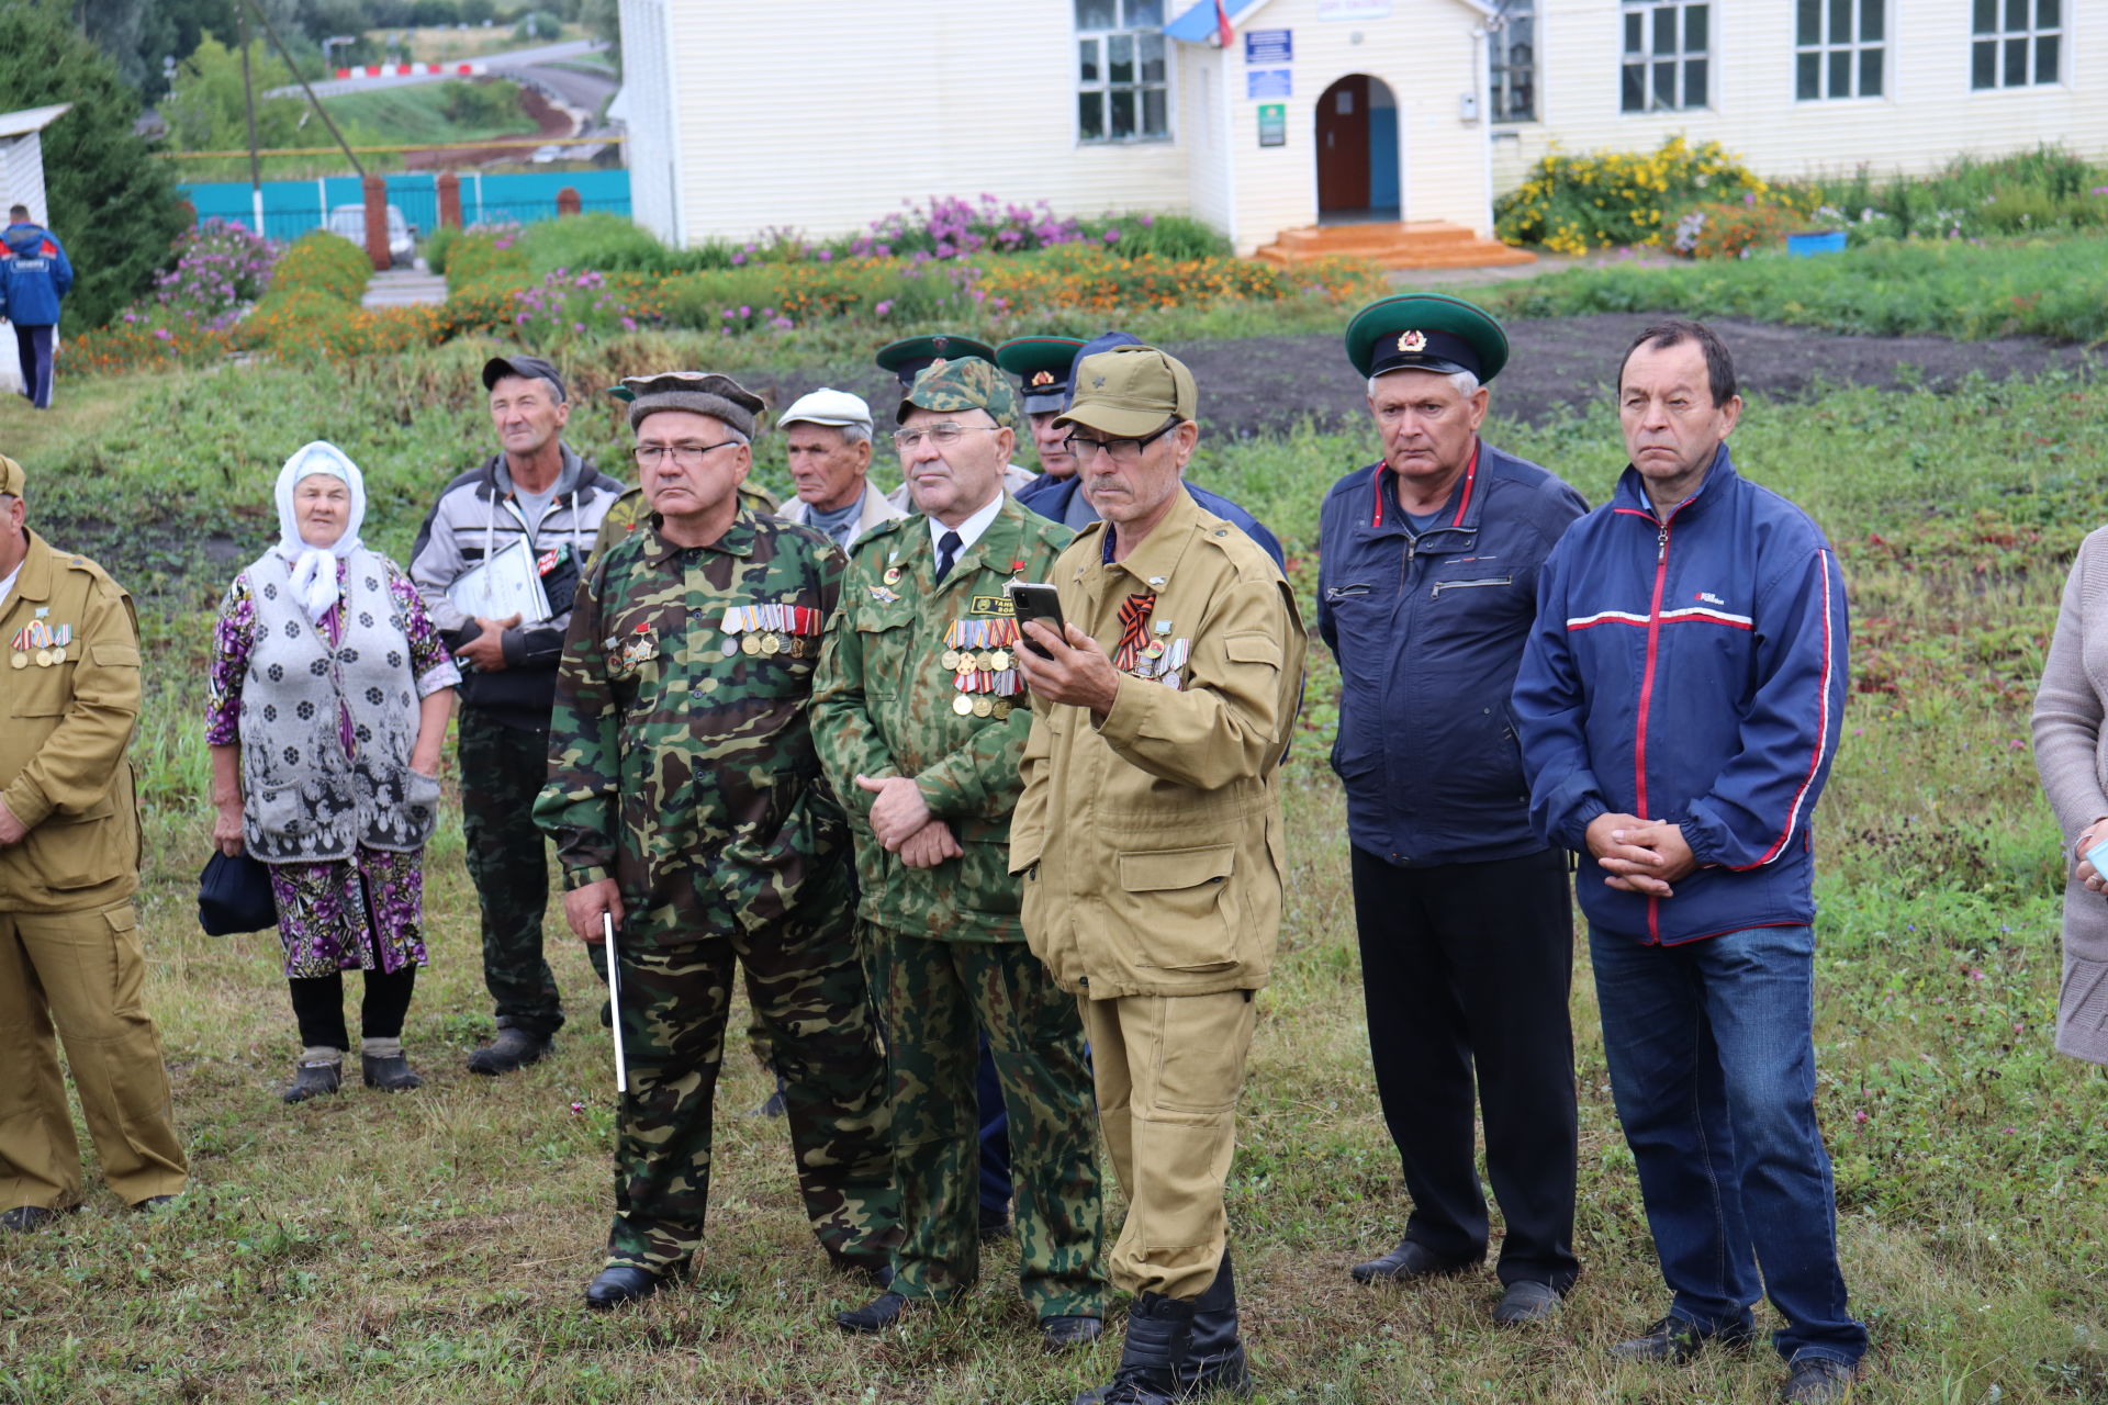
[[[1130,594],[1155,594],[1149,638],[1183,666],[1121,676],[1088,708],[1033,701],[1010,870],[1024,939],[1092,998],[1256,990],[1282,921],[1275,771],[1309,636],[1273,560],[1187,493],[1124,562],[1092,522],[1054,562],[1062,617],[1113,653]],[[1185,640],[1185,645],[1180,645]],[[1162,655],[1159,655],[1162,659]]]

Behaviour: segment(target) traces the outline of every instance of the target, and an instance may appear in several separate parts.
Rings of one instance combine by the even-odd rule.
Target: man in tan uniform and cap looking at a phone
[[[1147,345],[1077,367],[1065,411],[1100,520],[1054,565],[1067,619],[1027,624],[1033,693],[1010,868],[1024,933],[1090,1036],[1128,1190],[1111,1255],[1134,1293],[1115,1378],[1159,1405],[1244,1390],[1223,1184],[1282,916],[1275,773],[1307,634],[1267,554],[1185,493],[1193,373]]]

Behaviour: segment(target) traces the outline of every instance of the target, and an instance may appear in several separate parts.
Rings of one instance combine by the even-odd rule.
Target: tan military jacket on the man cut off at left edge
[[[51,642],[44,642],[44,640]],[[57,642],[65,638],[65,642]],[[139,621],[84,556],[30,533],[0,605],[0,798],[30,826],[0,847],[0,912],[86,912],[139,887],[131,746]]]

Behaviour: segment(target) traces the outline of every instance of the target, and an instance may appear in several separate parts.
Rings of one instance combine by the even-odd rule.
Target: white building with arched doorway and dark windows
[[[928,196],[1490,232],[1551,141],[1764,175],[2108,154],[2108,0],[622,0],[632,211],[691,244]]]

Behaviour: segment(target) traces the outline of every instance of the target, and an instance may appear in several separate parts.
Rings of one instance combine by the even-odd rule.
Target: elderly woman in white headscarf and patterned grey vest
[[[337,1091],[344,971],[365,971],[367,1087],[419,1085],[403,1017],[460,672],[409,575],[358,541],[365,512],[335,444],[287,459],[278,543],[234,577],[213,632],[213,840],[270,866],[301,1041],[287,1102]]]

